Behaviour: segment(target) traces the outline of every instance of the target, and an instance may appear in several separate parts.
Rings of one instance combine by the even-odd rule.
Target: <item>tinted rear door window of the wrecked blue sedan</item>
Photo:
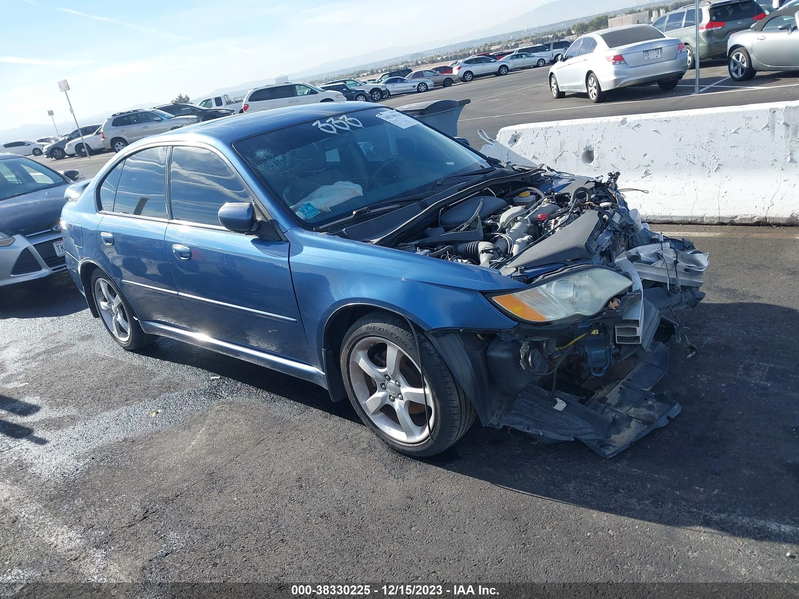
[[[166,218],[166,147],[141,150],[125,159],[113,212]]]

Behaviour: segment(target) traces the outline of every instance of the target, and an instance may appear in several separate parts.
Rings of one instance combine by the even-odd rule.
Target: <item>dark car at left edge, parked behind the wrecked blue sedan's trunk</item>
[[[66,269],[59,219],[78,177],[0,153],[0,287]]]

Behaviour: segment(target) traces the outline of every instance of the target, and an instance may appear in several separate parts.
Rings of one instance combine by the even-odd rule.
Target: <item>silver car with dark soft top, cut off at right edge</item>
[[[799,70],[799,6],[776,10],[727,42],[729,76],[747,81],[757,71]]]

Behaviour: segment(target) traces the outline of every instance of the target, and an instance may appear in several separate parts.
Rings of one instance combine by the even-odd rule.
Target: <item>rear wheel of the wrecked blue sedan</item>
[[[99,268],[92,273],[91,290],[94,306],[100,312],[105,330],[119,347],[133,351],[157,339],[156,335],[148,335],[141,330],[139,321],[133,317],[133,309],[128,300],[125,300],[111,277]]]

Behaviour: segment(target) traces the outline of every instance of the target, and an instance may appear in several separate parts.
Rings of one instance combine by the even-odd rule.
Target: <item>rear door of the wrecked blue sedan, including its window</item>
[[[142,320],[189,326],[169,268],[164,146],[131,154],[101,181],[100,226],[93,234],[103,268]]]

